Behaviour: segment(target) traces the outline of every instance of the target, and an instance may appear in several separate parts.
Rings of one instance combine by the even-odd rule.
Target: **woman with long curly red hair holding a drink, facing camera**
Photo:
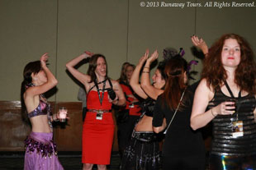
[[[256,63],[238,34],[213,44],[193,103],[194,130],[213,123],[210,169],[256,169]]]

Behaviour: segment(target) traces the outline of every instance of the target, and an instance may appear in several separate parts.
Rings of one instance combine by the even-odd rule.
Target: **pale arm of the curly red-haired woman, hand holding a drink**
[[[233,111],[227,110],[235,108],[234,106],[226,106],[233,102],[223,102],[217,105],[214,108],[211,108],[206,112],[206,107],[208,103],[213,98],[213,90],[210,90],[206,85],[206,80],[201,80],[200,84],[197,87],[193,107],[192,115],[190,117],[190,126],[193,130],[197,130],[203,126],[206,126],[211,120],[217,115],[229,115],[233,114]]]

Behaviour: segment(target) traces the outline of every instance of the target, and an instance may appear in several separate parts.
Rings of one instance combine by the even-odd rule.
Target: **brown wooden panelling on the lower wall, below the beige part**
[[[59,106],[69,110],[67,122],[55,122],[54,138],[59,151],[82,150],[82,103],[80,102],[50,102],[53,113]],[[29,135],[31,127],[22,122],[20,101],[0,101],[0,151],[24,151],[24,140]],[[113,143],[113,151],[118,150],[117,137]]]

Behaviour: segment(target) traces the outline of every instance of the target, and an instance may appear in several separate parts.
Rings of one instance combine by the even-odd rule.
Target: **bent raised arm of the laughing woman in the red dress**
[[[66,63],[66,67],[69,70],[69,72],[83,85],[85,85],[88,88],[88,82],[91,80],[91,77],[83,74],[82,72],[78,71],[74,67],[78,64],[78,62],[81,62],[83,59],[92,57],[92,53],[85,52],[79,55],[78,57],[73,58],[70,62]]]

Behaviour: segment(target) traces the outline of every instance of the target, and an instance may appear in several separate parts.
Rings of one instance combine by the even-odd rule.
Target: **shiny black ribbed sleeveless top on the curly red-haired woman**
[[[218,88],[207,109],[211,109],[226,99],[232,99]],[[255,97],[246,95],[235,98],[236,113],[217,115],[213,120],[211,154],[245,156],[256,154],[256,122],[254,120]],[[232,136],[232,122],[243,121],[244,136]]]

